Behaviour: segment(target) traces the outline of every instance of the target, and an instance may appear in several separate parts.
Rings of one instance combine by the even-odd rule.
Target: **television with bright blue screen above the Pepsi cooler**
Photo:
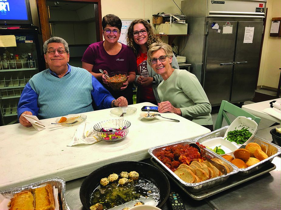
[[[31,25],[29,0],[0,0],[0,25]]]

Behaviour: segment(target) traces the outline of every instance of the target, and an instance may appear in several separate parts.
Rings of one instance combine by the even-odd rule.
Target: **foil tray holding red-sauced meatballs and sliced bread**
[[[199,183],[187,183],[187,182],[184,182],[182,179],[180,179],[180,177],[176,176],[176,174],[174,172],[172,172],[172,170],[170,170],[167,166],[165,166],[165,164],[163,164],[163,162],[161,162],[155,156],[157,152],[162,151],[163,149],[165,149],[168,146],[176,146],[176,145],[184,146],[184,145],[187,145],[187,144],[190,144],[190,143],[195,143],[195,141],[183,140],[183,141],[178,141],[178,142],[175,142],[175,143],[165,144],[165,145],[162,145],[162,146],[152,147],[148,150],[148,153],[159,163],[159,165],[162,166],[162,168],[164,168],[170,174],[170,176],[173,176],[174,179],[178,180],[178,182],[180,182],[183,186],[187,187],[190,192],[198,192],[200,190],[208,189],[208,188],[213,187],[215,185],[219,185],[219,184],[225,182],[228,179],[229,176],[238,172],[237,167],[233,167],[234,165],[232,165],[231,163],[229,163],[225,159],[221,158],[221,156],[211,152],[210,150],[206,150],[206,154],[205,154],[206,156],[208,156],[209,158],[221,159],[221,161],[229,168],[230,172],[226,175],[217,176],[217,177],[214,177],[212,179],[207,179],[207,180],[199,182]]]

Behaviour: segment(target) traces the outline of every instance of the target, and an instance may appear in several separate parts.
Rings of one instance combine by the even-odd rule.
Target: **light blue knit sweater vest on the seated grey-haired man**
[[[93,111],[91,76],[73,66],[62,78],[51,75],[49,69],[34,75],[29,84],[38,95],[39,119]]]

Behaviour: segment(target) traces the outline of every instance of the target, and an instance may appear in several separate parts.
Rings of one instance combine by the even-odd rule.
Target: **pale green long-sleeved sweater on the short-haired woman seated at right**
[[[180,108],[182,116],[199,125],[213,125],[211,104],[194,74],[175,69],[171,76],[158,86],[161,101]]]

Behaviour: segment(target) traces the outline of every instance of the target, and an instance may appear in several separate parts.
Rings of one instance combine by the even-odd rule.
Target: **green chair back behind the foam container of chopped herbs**
[[[252,120],[255,120],[255,122],[259,125],[259,122],[261,121],[261,119],[259,117],[256,117],[255,115],[252,115],[244,110],[242,110],[241,108],[233,105],[232,103],[229,103],[226,100],[222,100],[221,101],[221,107],[220,110],[218,112],[218,118],[216,121],[216,125],[214,130],[217,130],[219,128],[221,128],[222,125],[222,121],[223,118],[225,118],[226,122],[228,125],[231,124],[229,117],[227,116],[226,112],[238,117],[238,116],[245,116],[245,117],[251,117]]]

